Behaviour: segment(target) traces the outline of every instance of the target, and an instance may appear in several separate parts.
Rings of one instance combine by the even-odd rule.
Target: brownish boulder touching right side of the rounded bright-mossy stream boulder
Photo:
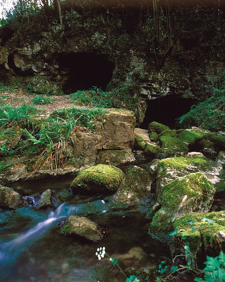
[[[151,184],[148,173],[138,166],[131,166],[113,195],[116,203],[138,204],[141,199],[151,195]]]

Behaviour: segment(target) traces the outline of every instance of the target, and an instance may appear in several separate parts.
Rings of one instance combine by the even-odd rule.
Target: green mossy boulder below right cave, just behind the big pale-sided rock
[[[159,137],[161,142],[161,158],[167,157],[180,157],[187,155],[187,145],[176,137],[172,137],[170,134],[164,134]]]

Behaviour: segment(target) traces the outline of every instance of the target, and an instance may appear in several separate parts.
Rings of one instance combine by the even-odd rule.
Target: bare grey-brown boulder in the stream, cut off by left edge
[[[22,197],[12,188],[0,184],[0,207],[15,210],[18,207],[24,206],[26,203],[27,200],[25,197]]]

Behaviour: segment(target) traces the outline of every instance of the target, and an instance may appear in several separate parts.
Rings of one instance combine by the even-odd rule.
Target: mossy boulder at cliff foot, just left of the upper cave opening
[[[54,82],[51,82],[43,75],[34,75],[30,78],[27,88],[38,94],[48,94],[48,95],[62,95],[62,90]]]

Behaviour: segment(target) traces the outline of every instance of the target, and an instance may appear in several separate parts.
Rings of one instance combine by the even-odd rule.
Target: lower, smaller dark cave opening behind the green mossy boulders
[[[175,95],[167,95],[161,98],[148,100],[141,128],[147,129],[150,122],[160,122],[169,128],[175,128],[176,119],[190,110],[197,103],[197,99],[180,98]]]

